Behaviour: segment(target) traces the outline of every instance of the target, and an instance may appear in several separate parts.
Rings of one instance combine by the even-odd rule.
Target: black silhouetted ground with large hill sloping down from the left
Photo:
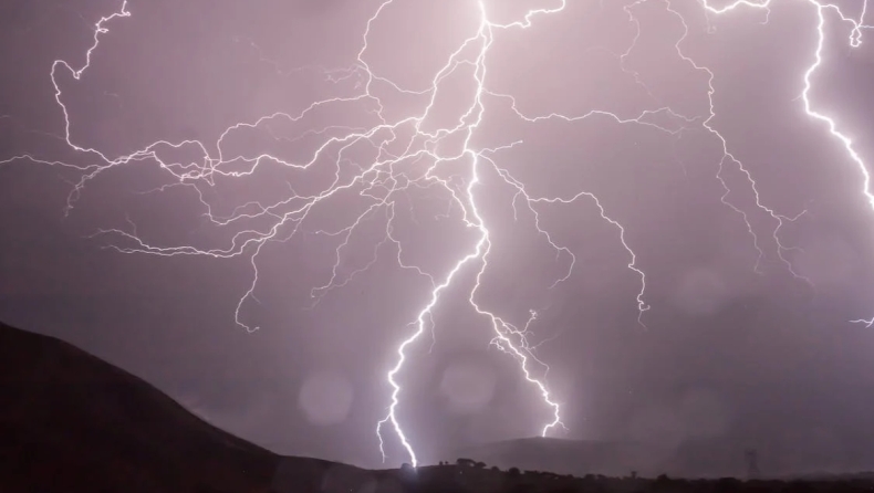
[[[61,340],[0,324],[0,493],[855,492],[819,481],[572,478],[474,461],[367,471],[280,457]]]

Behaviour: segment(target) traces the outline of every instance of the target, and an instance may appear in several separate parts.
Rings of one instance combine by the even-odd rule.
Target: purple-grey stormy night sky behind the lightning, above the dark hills
[[[862,13],[861,0],[834,4]],[[560,2],[485,6],[509,24]],[[474,0],[395,0],[374,18],[379,7],[131,1],[81,77],[55,65],[67,141],[53,62],[84,66],[95,23],[121,4],[3,2],[0,319],[277,452],[374,466],[386,371],[431,298],[429,276],[444,283],[488,230],[475,301],[518,328],[537,314],[527,340],[550,369],[529,368],[566,426],[551,437],[714,439],[758,448],[771,471],[874,468],[874,328],[850,322],[874,316],[874,211],[857,164],[804,112],[814,3],[706,15],[694,0],[580,0],[485,38]],[[870,32],[853,48],[852,22],[822,12],[811,104],[874,160]],[[420,116],[433,95],[418,136],[375,129]],[[344,101],[226,133],[332,98]],[[601,113],[527,122],[513,108]],[[468,128],[472,186],[470,156],[431,157],[462,155]],[[352,185],[306,199],[335,180]],[[528,202],[519,187],[530,199],[593,193],[616,223],[590,196]],[[623,238],[645,273],[642,315]],[[396,416],[423,462],[551,420],[468,301],[482,265],[470,260],[439,293],[397,374]],[[383,431],[386,464],[408,461]]]

